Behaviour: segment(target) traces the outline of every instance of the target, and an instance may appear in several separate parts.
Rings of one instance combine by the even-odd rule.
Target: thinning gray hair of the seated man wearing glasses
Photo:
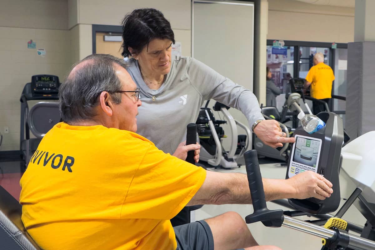
[[[80,63],[85,64],[72,72]],[[65,123],[95,117],[94,108],[99,105],[99,96],[103,91],[111,94],[114,103],[121,103],[121,93],[113,93],[121,90],[121,82],[114,69],[116,64],[128,67],[124,60],[105,54],[89,55],[72,66],[58,93],[60,115]]]

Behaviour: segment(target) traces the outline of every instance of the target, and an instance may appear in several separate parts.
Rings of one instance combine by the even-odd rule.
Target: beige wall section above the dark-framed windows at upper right
[[[269,0],[267,39],[348,43],[354,40],[354,8]]]

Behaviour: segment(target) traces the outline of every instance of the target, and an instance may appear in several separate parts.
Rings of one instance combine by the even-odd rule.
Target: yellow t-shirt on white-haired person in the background
[[[306,81],[311,82],[310,96],[316,99],[331,98],[333,80],[335,76],[330,66],[324,63],[312,66],[306,76]]]

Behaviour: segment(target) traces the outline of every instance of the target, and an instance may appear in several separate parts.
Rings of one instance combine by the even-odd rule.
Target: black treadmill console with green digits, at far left
[[[60,82],[58,76],[33,75],[31,76],[31,91],[33,94],[56,95]]]

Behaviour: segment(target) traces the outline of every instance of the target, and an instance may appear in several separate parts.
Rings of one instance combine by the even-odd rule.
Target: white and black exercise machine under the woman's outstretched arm
[[[235,120],[228,112],[229,107],[216,102],[214,111],[221,112],[225,120],[216,120],[213,112],[208,108],[207,100],[205,107],[199,111],[196,120],[199,144],[201,144],[199,161],[207,167],[214,168],[237,168],[240,166],[237,160],[243,156],[249,145],[251,145],[251,132],[248,127]],[[220,125],[228,124],[230,135],[226,136]],[[238,135],[237,126],[245,130],[246,135]],[[229,137],[230,148],[225,150],[223,138]]]

